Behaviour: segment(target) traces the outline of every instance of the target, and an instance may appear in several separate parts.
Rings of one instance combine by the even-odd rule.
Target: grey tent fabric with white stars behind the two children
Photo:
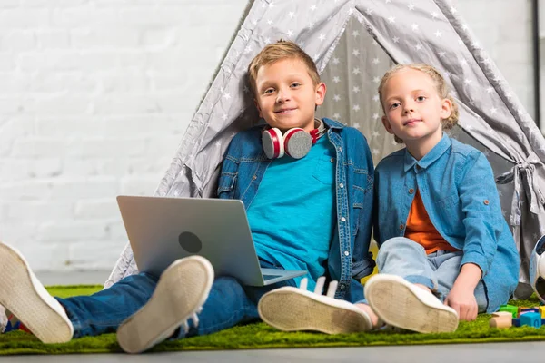
[[[233,39],[155,195],[209,197],[223,152],[258,121],[246,68],[280,38],[312,56],[328,86],[321,116],[367,137],[374,162],[397,150],[381,126],[377,86],[398,63],[427,63],[451,85],[460,108],[451,135],[485,152],[497,176],[504,216],[520,250],[528,288],[530,251],[545,232],[545,140],[509,85],[446,0],[259,0]],[[127,244],[104,288],[137,271]],[[520,297],[528,289],[520,289]]]

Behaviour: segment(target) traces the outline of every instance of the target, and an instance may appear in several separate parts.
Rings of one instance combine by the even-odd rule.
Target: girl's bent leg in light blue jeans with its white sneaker
[[[402,237],[387,240],[377,265],[381,273],[367,281],[365,297],[381,320],[422,333],[458,328],[456,311],[431,293],[437,291],[435,272],[418,243]]]

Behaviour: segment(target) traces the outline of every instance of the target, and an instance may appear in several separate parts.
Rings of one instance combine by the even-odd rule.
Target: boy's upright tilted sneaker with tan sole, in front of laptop
[[[170,338],[180,326],[188,331],[188,319],[198,326],[213,284],[212,264],[201,256],[174,261],[163,271],[154,294],[142,309],[124,320],[117,341],[127,353],[140,353]]]

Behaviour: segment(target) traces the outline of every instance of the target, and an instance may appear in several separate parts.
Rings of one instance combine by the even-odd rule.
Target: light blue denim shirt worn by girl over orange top
[[[384,158],[375,171],[374,237],[379,246],[405,234],[417,189],[431,223],[453,247],[463,251],[461,266],[482,270],[488,312],[507,303],[517,287],[520,258],[490,163],[470,145],[446,134],[420,161],[402,149]]]

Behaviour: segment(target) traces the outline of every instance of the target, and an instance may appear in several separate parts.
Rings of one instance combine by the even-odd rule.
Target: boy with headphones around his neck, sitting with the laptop
[[[262,267],[308,270],[311,286],[326,275],[339,280],[338,299],[362,299],[359,280],[374,266],[368,251],[373,167],[365,138],[341,123],[314,118],[326,87],[312,58],[296,44],[265,46],[249,76],[267,126],[233,138],[219,198],[243,201]],[[210,263],[191,256],[173,262],[160,279],[140,273],[89,297],[54,299],[5,244],[0,264],[0,302],[36,337],[63,342],[117,330],[121,347],[132,353],[167,338],[258,319],[264,293],[296,284],[254,288],[229,277],[214,280]],[[363,315],[350,309],[347,314],[360,322],[355,329],[369,329]]]

